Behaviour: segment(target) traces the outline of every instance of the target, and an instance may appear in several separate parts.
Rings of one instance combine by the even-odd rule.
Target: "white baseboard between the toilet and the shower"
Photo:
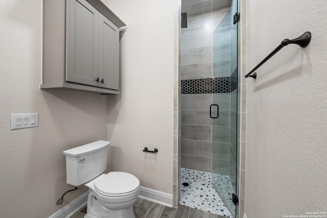
[[[168,207],[173,206],[173,195],[168,193],[142,187],[139,189],[138,198],[162,204]]]

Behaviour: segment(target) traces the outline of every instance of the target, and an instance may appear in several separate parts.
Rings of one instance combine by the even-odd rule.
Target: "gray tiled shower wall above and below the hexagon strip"
[[[224,169],[221,174],[229,175],[230,90],[226,87],[230,82],[230,39],[213,40],[218,25],[221,29],[217,34],[229,35],[229,15],[223,19],[229,8],[212,12],[212,7],[216,9],[215,0],[195,4],[182,1],[188,28],[181,29],[180,79],[182,87],[188,88],[181,95],[181,167],[204,172],[220,168]],[[215,75],[213,66],[218,69]],[[213,80],[213,76],[219,79]],[[224,85],[226,80],[228,86]],[[224,88],[217,89],[217,83]],[[219,118],[212,119],[209,106],[216,103]]]

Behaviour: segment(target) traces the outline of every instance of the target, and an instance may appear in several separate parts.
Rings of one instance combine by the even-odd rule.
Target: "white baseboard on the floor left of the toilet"
[[[87,204],[87,197],[88,191],[86,191],[85,193],[83,193],[83,195],[81,195],[71,203],[67,204],[51,216],[49,216],[49,218],[66,218],[73,215]]]

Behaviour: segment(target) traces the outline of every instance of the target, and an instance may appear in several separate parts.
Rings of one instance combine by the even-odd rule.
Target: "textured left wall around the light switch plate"
[[[66,184],[63,151],[106,139],[107,97],[41,90],[41,2],[0,1],[1,217],[48,217]],[[10,114],[39,113],[39,127],[10,130]],[[83,186],[81,186],[83,187]],[[85,192],[69,192],[71,202]]]

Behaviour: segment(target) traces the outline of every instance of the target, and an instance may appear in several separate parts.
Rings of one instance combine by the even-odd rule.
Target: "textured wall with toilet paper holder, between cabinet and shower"
[[[122,94],[108,97],[110,170],[173,192],[175,1],[108,1],[128,26],[121,37]],[[177,54],[177,53],[176,53]],[[157,154],[142,152],[157,148]]]

